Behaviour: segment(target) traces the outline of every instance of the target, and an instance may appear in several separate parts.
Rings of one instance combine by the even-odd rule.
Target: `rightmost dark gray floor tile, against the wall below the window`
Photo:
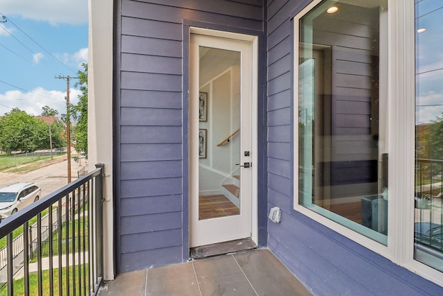
[[[267,249],[234,254],[258,295],[312,295]]]

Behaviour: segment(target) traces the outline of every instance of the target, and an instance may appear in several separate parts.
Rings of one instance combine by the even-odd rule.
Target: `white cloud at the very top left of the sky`
[[[88,0],[1,0],[3,15],[57,24],[87,24]]]

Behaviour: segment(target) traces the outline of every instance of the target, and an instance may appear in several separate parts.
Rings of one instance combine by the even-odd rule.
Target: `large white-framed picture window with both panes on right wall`
[[[442,18],[417,0],[293,18],[294,209],[440,285]]]

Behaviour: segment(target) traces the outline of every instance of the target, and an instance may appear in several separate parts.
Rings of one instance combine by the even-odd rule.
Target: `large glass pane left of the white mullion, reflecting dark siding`
[[[299,195],[302,206],[386,244],[388,7],[360,3],[322,1],[300,19]]]

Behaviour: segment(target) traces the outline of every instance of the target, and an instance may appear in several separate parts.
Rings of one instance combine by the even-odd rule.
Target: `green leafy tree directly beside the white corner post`
[[[73,118],[77,121],[74,128],[75,150],[88,157],[88,64],[83,63],[84,71],[78,71],[79,80],[75,87],[80,86],[82,95],[78,96],[78,104],[73,107]]]

